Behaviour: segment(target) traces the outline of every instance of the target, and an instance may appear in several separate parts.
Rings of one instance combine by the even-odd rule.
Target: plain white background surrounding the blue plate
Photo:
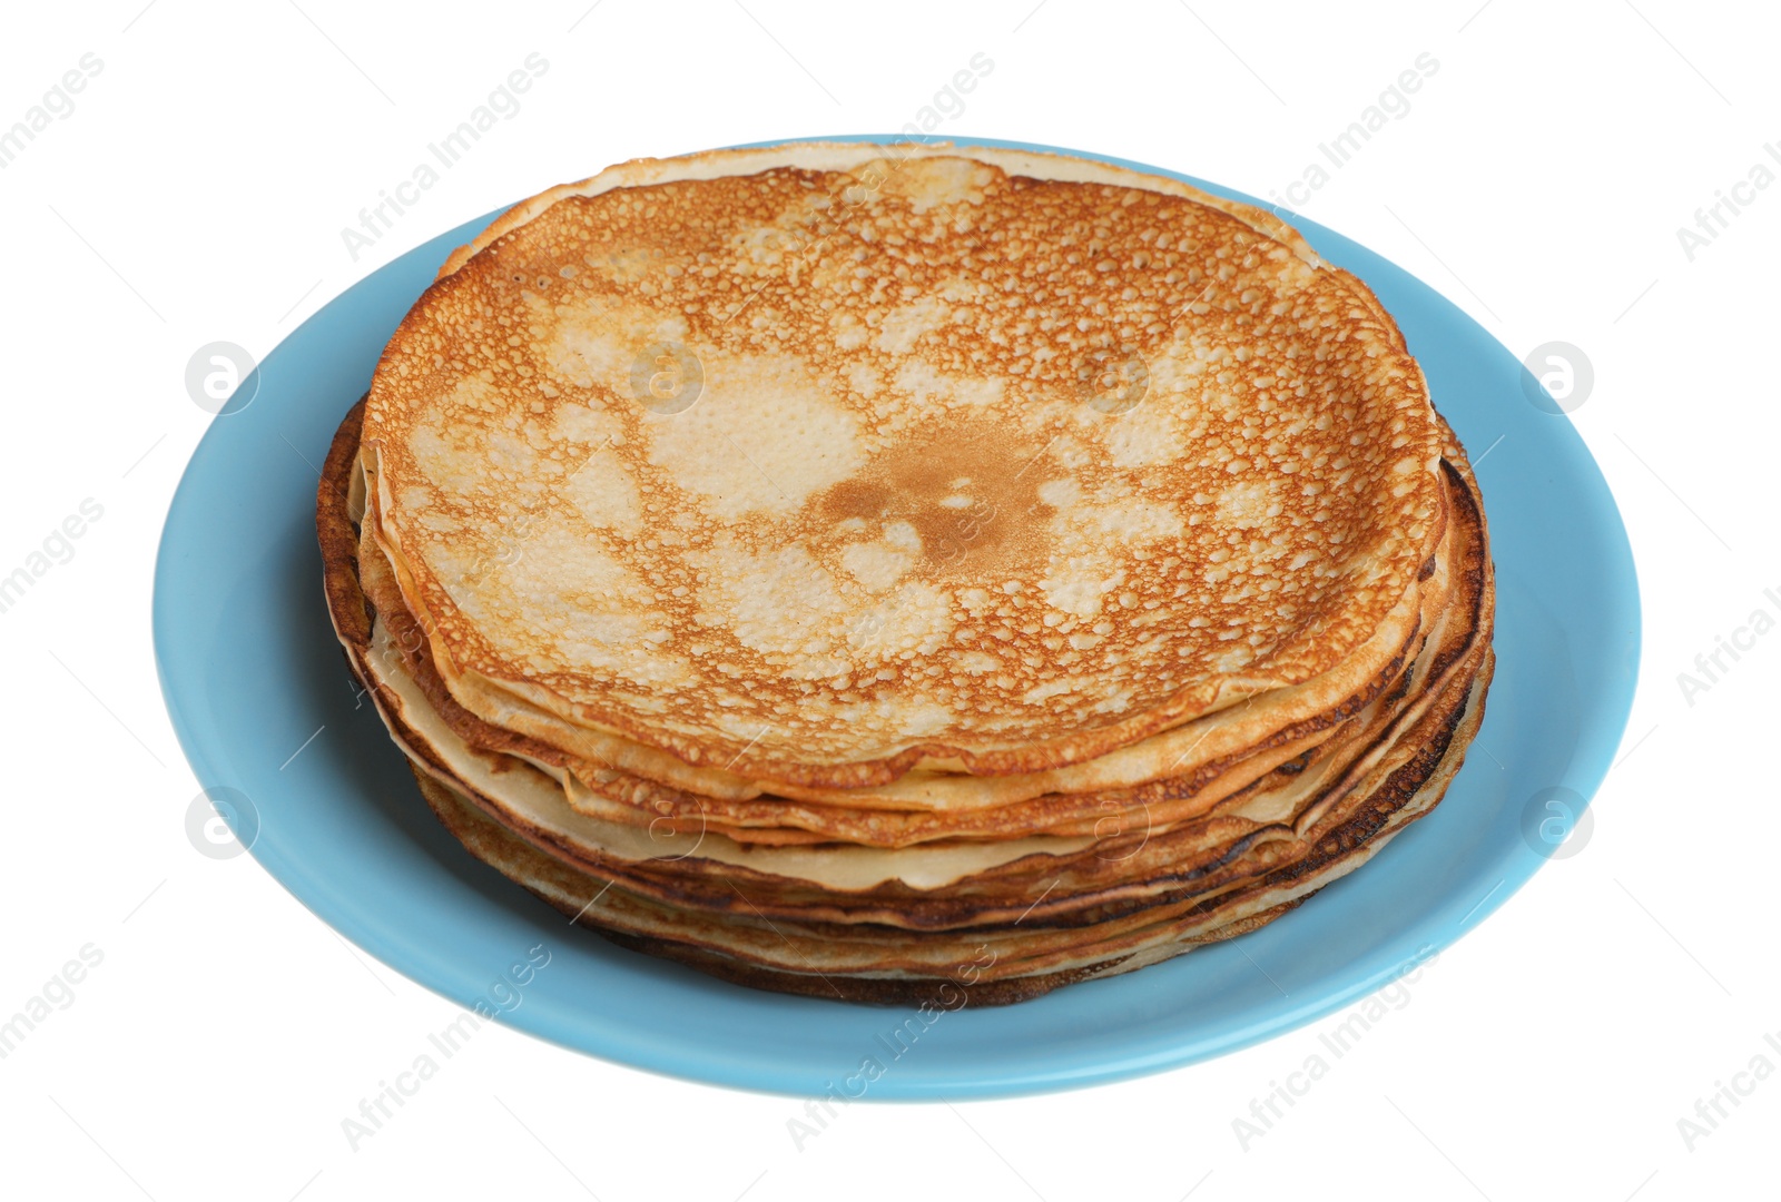
[[[698,5],[347,0],[14,5],[0,126],[84,53],[77,109],[0,169],[0,573],[103,506],[0,614],[9,805],[0,1017],[103,963],[0,1061],[9,1197],[1774,1197],[1781,1068],[1772,753],[1781,634],[1781,187],[1692,262],[1676,230],[1781,141],[1774,11],[1681,0]],[[527,53],[549,71],[353,262],[340,230]],[[1443,953],[1245,1149],[1232,1118],[1338,1019],[1218,1061],[1013,1102],[853,1106],[798,1150],[778,1097],[668,1081],[504,1027],[376,1138],[340,1120],[456,1010],[346,946],[251,857],[187,841],[198,785],[150,650],[167,500],[210,417],[192,351],[262,354],[408,248],[636,155],[892,132],[983,52],[942,130],[1076,146],[1256,196],[1412,61],[1407,116],[1302,207],[1517,354],[1582,347],[1576,411],[1639,559],[1646,652],[1590,842]],[[1772,164],[1776,166],[1776,164]],[[1535,483],[1537,484],[1537,483]],[[1555,511],[1553,522],[1565,513]],[[1729,661],[1728,661],[1729,662]],[[1744,1079],[1753,1081],[1753,1079]]]

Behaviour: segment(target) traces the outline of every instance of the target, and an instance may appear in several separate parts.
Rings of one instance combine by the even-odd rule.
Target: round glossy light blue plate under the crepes
[[[383,267],[265,356],[242,388],[258,388],[251,402],[216,418],[192,454],[155,566],[160,684],[198,780],[239,791],[221,808],[303,905],[459,1004],[627,1065],[794,1095],[965,1099],[1115,1081],[1289,1031],[1446,947],[1553,855],[1610,766],[1637,675],[1639,589],[1594,459],[1569,418],[1530,402],[1519,360],[1466,313],[1295,217],[1398,319],[1480,461],[1500,589],[1496,682],[1432,816],[1254,935],[1019,1006],[940,1011],[926,1029],[907,1024],[914,1011],[723,985],[572,928],[433,819],[356,694],[315,548],[315,479],[335,426],[438,264],[492,217]],[[1576,839],[1557,846],[1564,855]],[[495,987],[538,944],[549,965],[518,990]]]

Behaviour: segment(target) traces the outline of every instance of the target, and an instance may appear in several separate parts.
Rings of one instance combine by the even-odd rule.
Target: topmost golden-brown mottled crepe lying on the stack
[[[390,340],[363,454],[465,709],[864,785],[1088,760],[1414,623],[1435,422],[1266,214],[801,144],[504,217]]]

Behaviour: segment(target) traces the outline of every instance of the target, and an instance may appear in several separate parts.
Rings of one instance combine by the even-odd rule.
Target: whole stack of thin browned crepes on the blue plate
[[[438,817],[645,953],[1021,1001],[1277,919],[1443,796],[1471,468],[1275,215],[1063,155],[641,160],[459,249],[319,490]]]

